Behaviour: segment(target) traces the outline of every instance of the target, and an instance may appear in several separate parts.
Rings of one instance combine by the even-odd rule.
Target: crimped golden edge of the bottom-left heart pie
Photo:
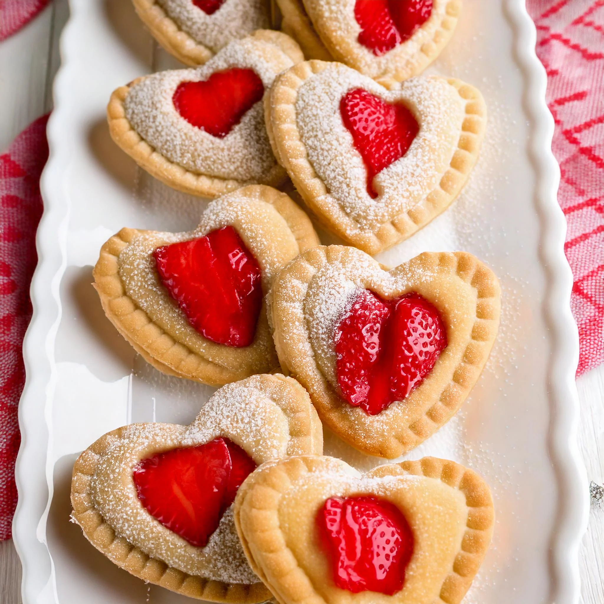
[[[263,380],[286,381],[292,388],[300,391],[300,396],[307,397],[304,388],[291,377],[280,374],[256,377],[261,377]],[[289,420],[288,426],[291,439],[288,444],[288,451],[290,447],[297,451],[302,447],[304,440],[310,439],[310,452],[314,455],[320,455],[323,451],[323,428],[310,401],[309,411],[308,423],[305,426],[307,434],[292,434],[292,425],[295,426],[297,432],[300,432],[300,428],[304,427],[300,423],[299,413]],[[147,555],[126,538],[117,536],[111,525],[104,521],[103,515],[92,502],[91,478],[103,453],[115,440],[121,438],[121,434],[127,427],[122,426],[101,436],[100,439],[97,439],[80,454],[74,464],[71,481],[71,518],[82,528],[86,539],[118,567],[139,579],[143,579],[145,582],[154,583],[183,596],[228,604],[257,604],[271,599],[272,594],[263,583],[251,585],[226,583],[204,579],[173,568],[169,564]],[[298,441],[300,446],[297,444]]]

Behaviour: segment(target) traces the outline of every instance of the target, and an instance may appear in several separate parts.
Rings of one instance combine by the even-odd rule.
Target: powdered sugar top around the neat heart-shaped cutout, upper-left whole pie
[[[262,102],[255,103],[224,138],[218,138],[182,118],[172,98],[180,83],[202,82],[214,72],[230,68],[254,69],[268,90],[275,76],[293,64],[268,42],[234,40],[197,69],[162,71],[132,86],[124,101],[126,118],[147,143],[191,172],[262,182],[277,164],[266,134]]]

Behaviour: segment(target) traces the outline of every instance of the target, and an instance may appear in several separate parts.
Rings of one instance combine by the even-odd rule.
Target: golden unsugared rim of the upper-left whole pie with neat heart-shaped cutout
[[[139,1],[147,2],[148,0]],[[266,53],[267,48],[272,47],[274,49],[270,54],[272,63],[274,63],[275,75],[304,59],[297,43],[286,34],[278,31],[258,30],[246,40],[263,43],[263,48],[259,49],[260,54]],[[254,181],[254,179],[221,178],[197,172],[165,156],[162,149],[147,141],[127,117],[126,103],[130,91],[147,78],[153,77],[162,76],[161,74],[153,74],[152,76],[140,77],[126,86],[115,89],[107,107],[107,120],[111,138],[150,175],[176,190],[207,198],[214,198],[245,185],[255,184],[255,182],[278,187],[287,179],[285,170],[278,164],[272,165],[261,179]],[[228,135],[225,138],[228,138]]]

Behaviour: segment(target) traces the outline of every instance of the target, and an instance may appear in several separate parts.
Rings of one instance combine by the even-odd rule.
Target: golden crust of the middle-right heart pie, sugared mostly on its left
[[[431,373],[405,400],[375,416],[342,399],[336,377],[335,329],[355,288],[385,299],[416,292],[434,304],[447,327],[448,346]],[[321,246],[280,272],[270,298],[284,373],[309,391],[321,420],[341,439],[389,459],[419,445],[457,413],[486,363],[500,319],[498,280],[467,252],[425,252],[386,272],[358,249]]]

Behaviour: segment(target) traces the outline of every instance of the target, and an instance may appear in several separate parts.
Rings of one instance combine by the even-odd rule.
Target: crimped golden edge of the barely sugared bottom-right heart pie
[[[327,459],[333,460],[334,458]],[[267,578],[265,570],[270,567],[271,574],[272,571],[277,574],[279,569],[291,567],[292,560],[297,563],[294,554],[284,545],[284,540],[280,538],[282,534],[278,519],[280,499],[289,490],[295,477],[312,472],[316,466],[324,463],[324,460],[326,460],[326,457],[299,455],[265,463],[249,475],[239,488],[235,499],[235,525],[239,539],[242,542],[243,551],[252,570],[271,589],[275,599],[280,604],[293,604],[294,600],[283,599],[277,594],[278,590]],[[344,466],[347,465],[341,460],[337,461],[344,464]],[[439,597],[432,603],[459,604],[483,562],[493,534],[495,510],[488,484],[473,470],[455,461],[437,457],[423,457],[418,461],[385,464],[376,467],[364,476],[379,478],[388,475],[414,475],[435,478],[464,494],[468,510],[466,530],[461,540],[460,550],[455,556],[451,573],[443,581]],[[249,527],[246,526],[245,519],[242,521],[242,516],[248,513],[248,509],[261,513],[263,524],[271,526],[271,529],[262,532],[262,545],[257,545],[257,548],[254,548],[262,548],[262,553],[268,554],[265,556],[263,566],[258,564],[257,558],[252,553],[250,542],[254,539],[254,534],[251,530],[248,530]],[[291,593],[302,594],[306,591],[304,588],[307,586],[306,584],[297,585],[295,574],[306,576],[306,573],[296,565],[288,573],[287,589]],[[302,597],[301,599],[297,597],[295,602],[296,604],[321,604],[324,600],[312,590],[309,597]]]

